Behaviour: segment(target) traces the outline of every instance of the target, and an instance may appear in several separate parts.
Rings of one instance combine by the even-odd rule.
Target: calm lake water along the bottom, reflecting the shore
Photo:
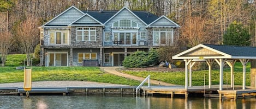
[[[106,96],[0,96],[0,108],[256,108],[255,98],[165,98]]]

